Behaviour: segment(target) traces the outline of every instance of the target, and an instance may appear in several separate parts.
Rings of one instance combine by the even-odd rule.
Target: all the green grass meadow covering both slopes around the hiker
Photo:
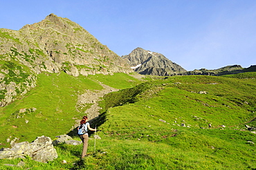
[[[0,142],[8,147],[10,135],[32,142],[40,135],[54,140],[70,132],[83,115],[75,109],[77,95],[100,91],[100,84],[106,84],[120,91],[104,95],[101,115],[91,122],[102,139],[94,140],[91,134],[90,155],[84,160],[80,160],[82,145],[59,144],[55,146],[59,158],[52,162],[26,158],[24,167],[8,167],[4,164],[21,159],[0,160],[0,168],[256,169],[256,134],[245,127],[256,126],[255,76],[252,72],[145,81],[125,74],[41,74],[36,88],[1,108]],[[21,108],[37,109],[19,115]]]

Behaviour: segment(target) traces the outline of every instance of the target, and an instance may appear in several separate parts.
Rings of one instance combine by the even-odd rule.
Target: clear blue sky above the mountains
[[[1,0],[0,28],[54,13],[118,55],[162,53],[186,70],[256,64],[256,0]]]

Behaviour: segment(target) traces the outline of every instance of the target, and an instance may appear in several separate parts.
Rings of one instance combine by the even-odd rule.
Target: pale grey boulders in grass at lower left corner
[[[23,158],[28,155],[38,162],[52,161],[58,156],[52,142],[51,138],[43,135],[31,143],[16,143],[11,149],[1,149],[0,159]]]

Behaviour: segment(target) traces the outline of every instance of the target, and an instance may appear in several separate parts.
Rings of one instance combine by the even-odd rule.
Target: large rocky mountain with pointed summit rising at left
[[[35,86],[37,74],[131,73],[121,57],[73,21],[48,15],[20,30],[0,29],[0,106]]]

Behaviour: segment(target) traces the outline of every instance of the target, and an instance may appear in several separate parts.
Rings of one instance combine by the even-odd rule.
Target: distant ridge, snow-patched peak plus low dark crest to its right
[[[255,71],[256,66],[242,68],[240,65],[224,66],[221,68],[208,70],[206,68],[194,69],[187,71],[178,64],[167,59],[161,53],[144,50],[143,48],[135,48],[129,55],[122,55],[122,59],[127,61],[131,68],[141,75],[228,75]]]

